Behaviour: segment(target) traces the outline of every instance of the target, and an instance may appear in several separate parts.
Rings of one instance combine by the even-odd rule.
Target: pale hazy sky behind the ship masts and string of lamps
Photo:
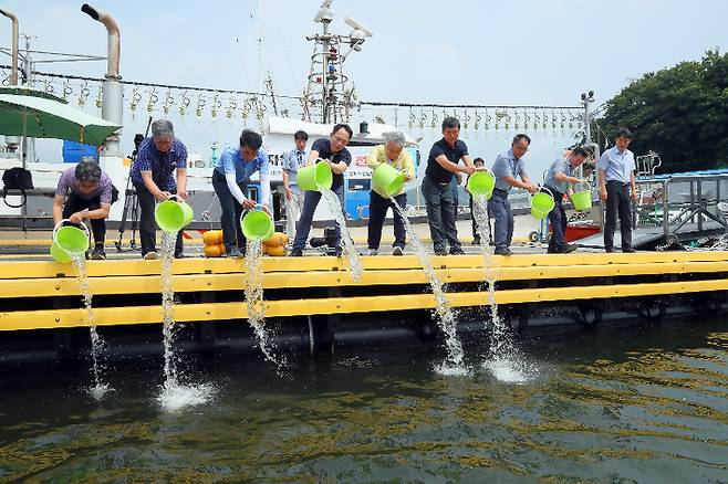
[[[105,55],[105,30],[81,12],[81,4],[0,0],[20,19],[21,33],[33,35],[33,49]],[[121,27],[122,76],[128,81],[257,91],[262,33],[263,72],[278,94],[298,95],[312,49],[305,35],[320,30],[312,21],[320,0],[92,4],[112,13]],[[365,101],[576,106],[580,93],[592,90],[599,106],[647,72],[728,48],[725,0],[334,0],[332,9],[333,31],[347,33],[343,18],[350,15],[374,32],[362,52],[346,61]],[[0,22],[0,44],[9,43],[10,22]],[[101,77],[105,63],[42,64],[38,70]],[[132,117],[128,87],[125,95],[123,141],[131,151],[133,134],[144,131],[146,109]],[[153,115],[162,116],[159,106]],[[371,122],[371,115],[362,111],[352,124]],[[407,130],[407,113],[399,115],[399,127]],[[170,119],[190,151],[204,156],[216,139],[235,144],[242,128],[239,118],[197,120],[173,114]],[[490,165],[514,134],[480,131],[466,134],[465,140],[474,156]],[[438,138],[437,130],[414,135],[423,137],[425,154]],[[533,135],[528,164],[537,173],[573,140]],[[60,144],[46,141],[39,154],[44,161],[60,160]]]

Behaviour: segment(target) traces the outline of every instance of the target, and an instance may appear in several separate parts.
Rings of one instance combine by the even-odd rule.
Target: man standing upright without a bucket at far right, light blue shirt
[[[622,252],[634,252],[632,248],[632,201],[637,201],[637,188],[634,181],[634,154],[627,149],[632,141],[632,131],[621,128],[615,137],[615,147],[607,149],[596,164],[599,169],[600,197],[606,201],[606,221],[604,222],[604,249],[614,252],[614,229],[620,215],[620,234]]]

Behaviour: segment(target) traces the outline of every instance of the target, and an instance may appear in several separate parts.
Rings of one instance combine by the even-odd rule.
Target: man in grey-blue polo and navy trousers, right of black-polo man
[[[496,177],[493,194],[488,200],[488,214],[495,220],[495,254],[510,255],[510,244],[513,240],[513,212],[508,201],[508,192],[511,188],[522,188],[534,193],[538,188],[523,168],[523,156],[531,145],[531,138],[527,135],[516,135],[511,143],[511,149],[498,155],[493,164],[492,172]],[[519,177],[520,180],[517,180]]]

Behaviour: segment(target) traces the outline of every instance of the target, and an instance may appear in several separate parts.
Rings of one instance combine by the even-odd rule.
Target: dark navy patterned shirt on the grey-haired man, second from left
[[[159,190],[175,191],[177,189],[177,182],[173,176],[175,169],[187,169],[185,145],[174,138],[169,151],[162,152],[154,144],[154,138],[148,137],[139,145],[129,176],[132,181],[143,185],[142,171],[152,171],[152,180],[159,187]]]

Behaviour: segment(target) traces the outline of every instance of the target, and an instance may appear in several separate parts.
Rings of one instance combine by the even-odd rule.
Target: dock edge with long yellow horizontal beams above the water
[[[485,281],[495,277],[499,315],[513,329],[554,312],[589,326],[610,312],[652,320],[677,306],[717,312],[728,294],[728,252],[521,254],[490,256],[488,267],[482,255],[433,256],[431,262],[450,306],[466,309],[461,322],[487,320]],[[364,275],[355,283],[341,259],[264,257],[267,324],[312,350],[331,349],[350,323],[361,334],[367,330],[362,322],[368,322],[373,332],[399,325],[436,337],[430,315],[436,301],[418,259],[370,256],[362,263]],[[139,328],[146,328],[147,339],[160,333],[160,261],[89,261],[86,269],[95,324],[102,334],[110,332],[110,345]],[[243,260],[174,261],[175,320],[191,328],[190,341],[201,349],[214,351],[236,333],[249,336],[245,269]],[[3,353],[28,351],[20,341],[35,337],[45,338],[41,346],[56,356],[75,354],[69,335],[91,322],[74,266],[8,261],[0,262],[0,360]]]

